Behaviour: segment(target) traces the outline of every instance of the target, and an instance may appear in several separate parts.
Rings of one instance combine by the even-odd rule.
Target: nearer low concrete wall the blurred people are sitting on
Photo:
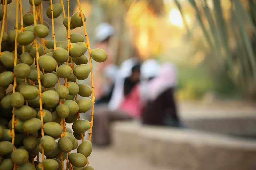
[[[116,152],[140,155],[150,164],[181,170],[255,170],[256,140],[193,129],[112,124]]]

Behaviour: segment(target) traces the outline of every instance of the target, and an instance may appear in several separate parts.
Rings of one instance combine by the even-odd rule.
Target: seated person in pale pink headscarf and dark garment
[[[163,63],[156,76],[148,81],[144,92],[146,104],[143,109],[143,124],[180,126],[174,100],[176,76],[175,65]]]

